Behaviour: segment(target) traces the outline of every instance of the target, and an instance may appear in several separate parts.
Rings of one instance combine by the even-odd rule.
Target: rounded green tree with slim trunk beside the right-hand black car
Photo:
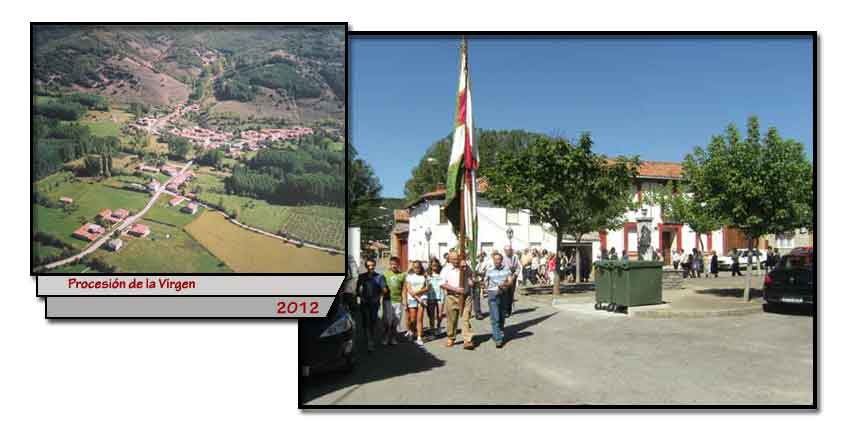
[[[765,234],[812,225],[813,171],[803,145],[783,139],[774,127],[762,139],[755,116],[747,121],[745,138],[729,124],[707,148],[696,147],[687,155],[684,180],[695,202],[744,233],[749,249]],[[751,272],[747,270],[744,289],[747,300]]]

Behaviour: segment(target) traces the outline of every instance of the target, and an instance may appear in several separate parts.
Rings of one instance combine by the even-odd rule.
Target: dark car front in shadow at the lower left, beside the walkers
[[[338,295],[325,318],[299,321],[299,366],[302,376],[349,371],[355,364],[355,323]]]

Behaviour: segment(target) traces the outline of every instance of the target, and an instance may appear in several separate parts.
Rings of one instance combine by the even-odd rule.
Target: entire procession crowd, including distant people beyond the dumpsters
[[[732,249],[732,276],[739,276],[740,253]],[[599,259],[629,261],[626,251],[619,256],[615,248],[601,249]],[[361,327],[367,336],[368,351],[377,344],[396,345],[402,341],[424,342],[446,338],[447,347],[456,343],[457,328],[463,337],[463,348],[474,349],[470,320],[482,320],[481,299],[489,305],[492,338],[497,348],[505,343],[505,319],[513,312],[518,281],[537,285],[569,281],[580,270],[580,280],[587,282],[592,263],[577,268],[573,251],[554,253],[538,248],[514,252],[506,246],[504,252],[481,252],[473,265],[451,249],[443,256],[444,263],[431,257],[429,264],[415,260],[406,272],[400,260],[392,256],[383,273],[377,271],[374,258],[365,259],[364,273],[358,276],[356,297]],[[779,261],[778,251],[768,248],[765,267],[770,271]],[[706,253],[693,248],[690,252],[672,252],[672,265],[683,271],[685,278],[719,276],[716,252]],[[381,319],[380,319],[381,310]],[[444,327],[443,327],[444,326]]]

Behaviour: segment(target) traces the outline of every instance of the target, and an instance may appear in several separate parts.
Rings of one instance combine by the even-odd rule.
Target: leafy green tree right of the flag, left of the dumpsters
[[[490,167],[481,167],[487,179],[485,195],[508,208],[524,208],[556,235],[556,249],[570,234],[577,242],[586,233],[617,228],[633,206],[632,185],[639,158],[609,160],[592,151],[591,136],[576,144],[541,136],[519,153],[497,154]],[[579,260],[579,252],[576,253]],[[577,274],[578,277],[578,274]],[[553,295],[561,290],[555,278]]]

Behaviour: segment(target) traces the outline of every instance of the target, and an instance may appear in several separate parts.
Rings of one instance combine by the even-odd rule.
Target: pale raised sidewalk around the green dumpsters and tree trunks
[[[723,275],[723,273],[721,273]],[[725,273],[720,278],[686,279],[683,289],[663,290],[663,303],[627,309],[630,318],[709,318],[739,316],[762,312],[761,285],[763,276],[753,276],[752,297],[743,299],[746,277]],[[564,311],[609,316],[605,310],[594,309],[594,284],[564,285],[562,294],[553,298],[552,289],[517,288],[520,300],[553,306]],[[624,315],[624,314],[620,314]]]

